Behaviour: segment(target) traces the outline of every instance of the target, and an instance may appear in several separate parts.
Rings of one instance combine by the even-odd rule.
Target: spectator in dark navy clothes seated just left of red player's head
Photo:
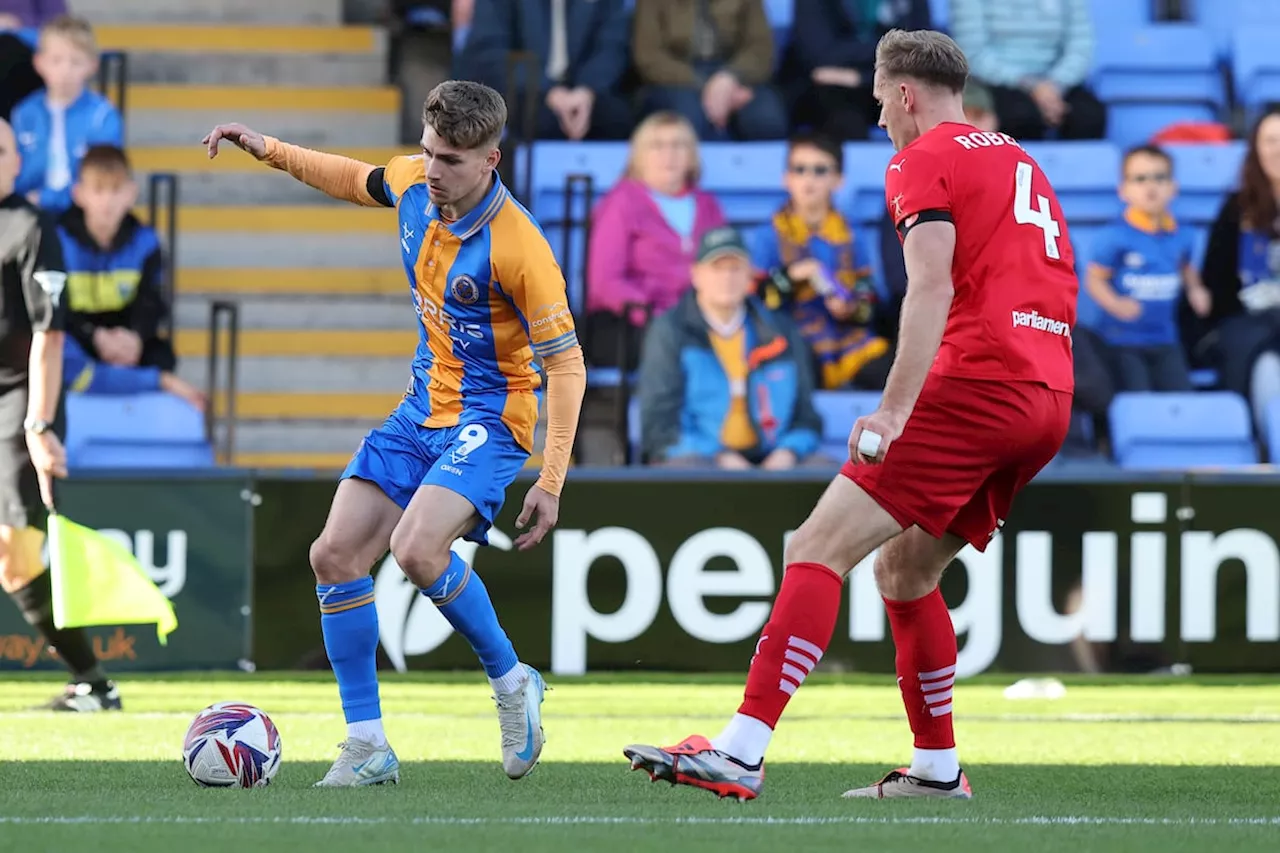
[[[928,0],[804,0],[795,4],[780,78],[791,122],[837,142],[879,122],[872,97],[876,44],[893,28],[928,29]]]

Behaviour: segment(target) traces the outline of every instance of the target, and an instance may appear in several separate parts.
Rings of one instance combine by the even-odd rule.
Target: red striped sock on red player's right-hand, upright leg
[[[942,590],[915,601],[884,599],[893,644],[897,685],[915,735],[911,775],[954,781],[960,775],[951,690],[956,680],[956,633]]]

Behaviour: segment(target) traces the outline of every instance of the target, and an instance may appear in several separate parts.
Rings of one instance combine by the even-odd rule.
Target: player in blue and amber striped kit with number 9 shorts
[[[516,546],[556,525],[586,387],[564,277],[529,211],[495,174],[507,106],[480,83],[436,86],[424,108],[422,152],[372,167],[221,124],[227,140],[323,192],[396,207],[401,260],[419,316],[412,384],[343,471],[311,547],[325,649],[338,679],[347,740],[319,786],[399,780],[383,731],[370,570],[388,548],[467,638],[493,685],[502,766],[512,779],[543,748],[543,678],[520,662],[480,576],[449,548],[488,544],[507,487],[529,459],[538,423],[539,356],[548,377],[543,470],[525,496]]]

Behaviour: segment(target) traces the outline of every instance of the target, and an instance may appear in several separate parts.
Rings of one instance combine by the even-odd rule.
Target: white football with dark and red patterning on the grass
[[[191,721],[182,763],[201,788],[262,788],[280,768],[280,733],[252,704],[219,702]]]

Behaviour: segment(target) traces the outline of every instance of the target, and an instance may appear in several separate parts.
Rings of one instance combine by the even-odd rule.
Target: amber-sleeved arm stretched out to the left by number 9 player
[[[202,140],[209,147],[209,159],[218,156],[218,145],[223,140],[273,169],[288,172],[302,183],[315,187],[326,196],[366,207],[390,206],[385,197],[378,197],[370,190],[370,175],[378,167],[369,163],[352,160],[339,154],[325,154],[289,145],[237,123],[219,124]],[[380,186],[381,181],[375,183]],[[380,191],[378,195],[384,196]]]

